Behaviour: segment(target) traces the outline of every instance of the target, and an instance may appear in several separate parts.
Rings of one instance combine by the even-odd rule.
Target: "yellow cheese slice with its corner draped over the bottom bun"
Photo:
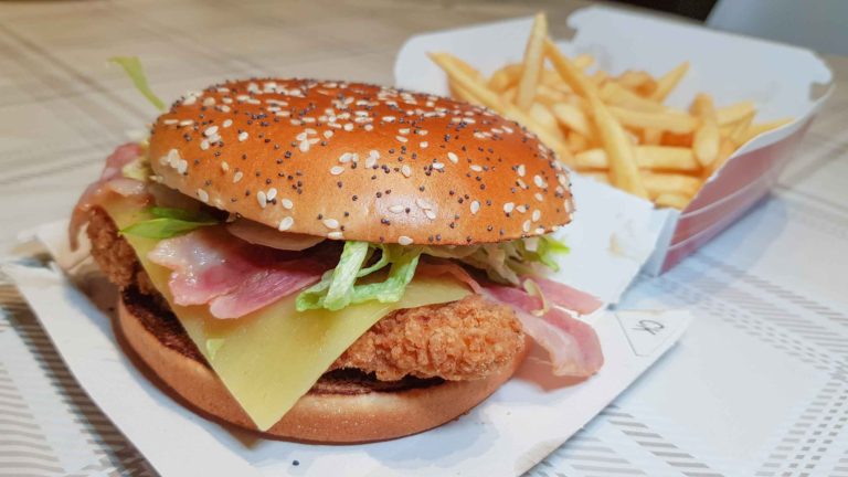
[[[118,229],[148,219],[128,201],[106,204]],[[279,421],[359,337],[393,310],[455,301],[470,292],[458,282],[415,278],[401,301],[369,301],[339,311],[295,310],[297,294],[239,319],[216,319],[206,306],[176,305],[170,271],[147,258],[157,241],[126,235],[141,266],[189,337],[261,431]]]

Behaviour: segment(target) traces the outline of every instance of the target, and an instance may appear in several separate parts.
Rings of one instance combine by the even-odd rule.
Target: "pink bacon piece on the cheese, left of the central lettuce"
[[[178,305],[209,305],[215,318],[239,318],[318,282],[328,269],[310,258],[251,245],[208,227],[159,242],[148,258],[171,273]]]

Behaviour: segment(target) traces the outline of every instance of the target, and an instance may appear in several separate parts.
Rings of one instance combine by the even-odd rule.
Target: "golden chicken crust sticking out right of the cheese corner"
[[[405,375],[476,380],[509,365],[523,348],[516,312],[470,295],[459,301],[395,311],[348,348],[331,369],[374,372],[381,381]]]

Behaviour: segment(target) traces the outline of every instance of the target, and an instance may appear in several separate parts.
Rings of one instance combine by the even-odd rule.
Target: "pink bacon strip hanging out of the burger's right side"
[[[521,320],[524,332],[548,351],[555,375],[587,378],[604,364],[601,341],[595,330],[589,324],[556,307],[548,310],[544,316],[536,316],[533,311],[541,309],[543,305],[538,296],[531,296],[523,289],[512,286],[490,282],[480,284],[465,268],[447,261],[421,262],[416,273],[430,276],[449,275],[468,284],[475,293],[511,306]],[[592,312],[601,306],[597,298],[569,286],[544,278],[533,279],[539,284],[545,298],[563,308],[575,306],[576,312]]]

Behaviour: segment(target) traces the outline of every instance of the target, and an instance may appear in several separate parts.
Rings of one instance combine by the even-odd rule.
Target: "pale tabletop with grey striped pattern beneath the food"
[[[582,4],[3,2],[0,250],[26,256],[18,233],[67,216],[103,158],[152,118],[109,56],[141,56],[162,97],[247,75],[389,84],[409,35],[539,9],[555,34]],[[848,476],[848,60],[827,60],[836,94],[777,190],[629,293],[628,305],[691,309],[683,341],[531,475]],[[751,386],[774,392],[753,400]],[[693,393],[699,409],[680,405]],[[0,275],[0,475],[155,474]]]

